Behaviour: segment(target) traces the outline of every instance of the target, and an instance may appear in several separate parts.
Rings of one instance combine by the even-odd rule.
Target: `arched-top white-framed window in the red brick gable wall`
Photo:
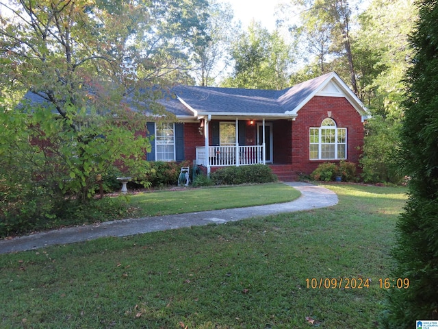
[[[345,160],[347,128],[338,128],[333,119],[324,119],[320,127],[310,128],[310,160]]]

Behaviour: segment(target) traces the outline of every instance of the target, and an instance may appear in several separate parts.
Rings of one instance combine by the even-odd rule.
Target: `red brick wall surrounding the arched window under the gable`
[[[363,146],[363,123],[361,115],[344,97],[313,97],[298,111],[296,121],[292,121],[292,167],[294,171],[311,173],[325,160],[309,160],[310,127],[320,127],[331,111],[331,119],[337,127],[347,128],[347,159],[359,164]]]

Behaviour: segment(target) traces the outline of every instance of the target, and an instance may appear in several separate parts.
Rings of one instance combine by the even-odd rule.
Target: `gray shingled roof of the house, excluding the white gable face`
[[[198,115],[289,117],[296,115],[306,99],[318,92],[331,76],[339,79],[335,73],[327,73],[284,90],[175,86],[170,90],[162,90],[163,96],[159,103],[180,118],[196,119],[194,111]],[[345,89],[348,87],[345,86]],[[357,99],[352,93],[351,96]],[[47,104],[42,97],[31,92],[25,95],[25,99],[30,105]],[[363,107],[360,101],[359,106]],[[364,108],[363,110],[366,112]]]

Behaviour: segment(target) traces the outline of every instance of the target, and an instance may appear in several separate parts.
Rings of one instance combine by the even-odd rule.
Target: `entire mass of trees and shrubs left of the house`
[[[147,116],[172,119],[154,101],[161,89],[151,86],[183,80],[175,70],[193,51],[186,41],[207,40],[206,5],[1,3],[7,12],[0,25],[3,232],[40,227],[65,213],[75,217],[76,210],[81,217],[98,178],[105,188],[116,186],[116,162],[122,173],[144,176],[144,154],[151,150],[144,137]]]

